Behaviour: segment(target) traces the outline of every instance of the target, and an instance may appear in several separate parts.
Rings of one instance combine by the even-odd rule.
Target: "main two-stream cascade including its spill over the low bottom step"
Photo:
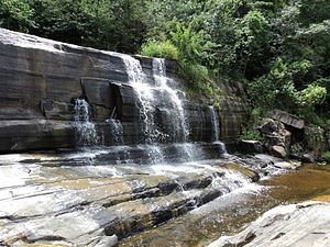
[[[148,83],[140,60],[128,55],[119,56],[123,59],[129,83],[139,99],[141,125],[144,134],[143,143],[146,144],[148,160],[154,160],[153,162],[163,160],[163,158],[160,159],[162,151],[155,151],[160,150],[160,143],[177,143],[179,144],[177,153],[185,157],[186,161],[195,161],[196,148],[194,144],[188,143],[190,132],[182,100],[185,99],[185,93],[169,87],[169,83],[175,85],[175,81],[166,76],[165,59],[153,58],[154,83]],[[156,113],[160,110],[163,111],[165,119],[163,123],[156,119]]]

